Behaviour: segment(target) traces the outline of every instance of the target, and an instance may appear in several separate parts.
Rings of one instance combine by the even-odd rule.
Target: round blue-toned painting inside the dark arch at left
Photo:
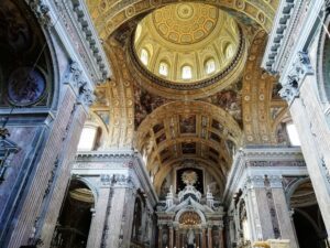
[[[19,67],[8,82],[8,98],[15,106],[29,106],[44,96],[46,82],[42,73],[33,67]]]

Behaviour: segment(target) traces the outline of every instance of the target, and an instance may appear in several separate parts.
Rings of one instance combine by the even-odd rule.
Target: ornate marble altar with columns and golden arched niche
[[[211,192],[202,197],[187,184],[177,195],[172,187],[157,205],[158,248],[222,248],[223,208]]]

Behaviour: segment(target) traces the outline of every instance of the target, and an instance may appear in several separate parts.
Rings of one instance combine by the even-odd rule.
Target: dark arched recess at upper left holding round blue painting
[[[24,1],[3,0],[0,12],[1,23],[8,29],[0,37],[0,67],[7,68],[2,71],[7,82],[0,88],[6,93],[4,104],[16,107],[16,112],[28,112],[21,109],[31,107],[56,109],[59,69],[48,30],[37,22]],[[18,91],[14,85],[25,90]]]

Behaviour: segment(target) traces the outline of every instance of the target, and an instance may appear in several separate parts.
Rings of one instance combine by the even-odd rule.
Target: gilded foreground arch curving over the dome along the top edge
[[[91,17],[94,17],[96,28],[99,31],[101,39],[107,40],[114,30],[125,22],[135,19],[136,17],[144,15],[157,8],[162,8],[175,2],[179,1],[133,0],[127,3],[117,2],[114,4],[110,4],[106,1],[98,0],[97,2],[92,1],[92,3],[91,1],[88,1],[87,4]],[[250,3],[249,1],[215,2],[213,0],[199,0],[194,2],[202,2],[229,10],[243,23],[249,23],[249,21],[256,22],[266,32],[271,32],[275,11],[278,4],[277,1],[257,1]],[[246,18],[249,21],[246,21]]]

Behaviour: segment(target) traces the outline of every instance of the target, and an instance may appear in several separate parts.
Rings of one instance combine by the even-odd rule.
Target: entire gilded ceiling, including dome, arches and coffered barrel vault
[[[210,4],[87,1],[113,68],[91,108],[107,136],[103,148],[138,149],[157,193],[174,169],[190,161],[215,177],[221,195],[241,147],[288,141],[290,117],[276,78],[260,68],[277,1],[202,2]],[[226,44],[233,45],[232,57]],[[217,71],[206,75],[210,55]],[[161,62],[168,64],[168,78],[160,74]],[[194,72],[182,80],[185,62]],[[226,75],[217,77],[219,72]]]

